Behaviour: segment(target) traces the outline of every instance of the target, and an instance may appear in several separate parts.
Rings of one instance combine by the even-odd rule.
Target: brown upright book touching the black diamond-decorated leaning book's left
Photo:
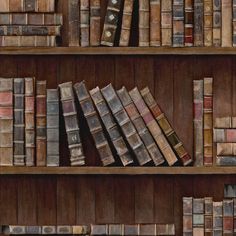
[[[101,3],[90,0],[90,46],[99,46],[101,42]]]

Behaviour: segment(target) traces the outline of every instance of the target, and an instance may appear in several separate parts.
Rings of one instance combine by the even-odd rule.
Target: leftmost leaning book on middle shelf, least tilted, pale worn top
[[[72,82],[59,84],[71,166],[85,165]]]

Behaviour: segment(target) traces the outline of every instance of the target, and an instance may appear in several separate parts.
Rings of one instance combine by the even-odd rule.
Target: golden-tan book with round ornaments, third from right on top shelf
[[[213,36],[213,1],[204,0],[204,46],[212,46]]]

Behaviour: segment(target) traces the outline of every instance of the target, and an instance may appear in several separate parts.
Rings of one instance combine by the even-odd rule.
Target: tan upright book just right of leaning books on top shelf
[[[139,0],[139,47],[150,45],[150,1]]]

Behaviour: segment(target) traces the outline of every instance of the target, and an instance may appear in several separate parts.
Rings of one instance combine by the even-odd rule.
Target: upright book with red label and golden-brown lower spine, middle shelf
[[[213,78],[204,78],[203,89],[203,132],[204,132],[204,158],[205,166],[213,164]]]

